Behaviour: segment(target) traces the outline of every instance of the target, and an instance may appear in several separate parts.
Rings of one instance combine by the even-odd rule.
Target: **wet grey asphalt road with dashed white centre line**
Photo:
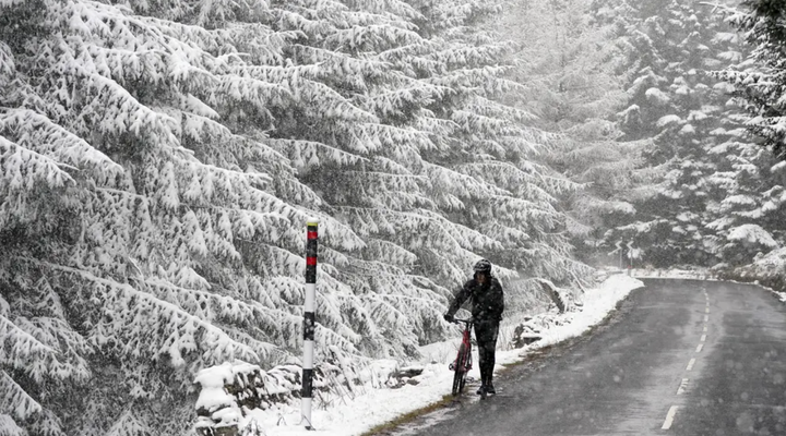
[[[643,280],[592,335],[395,435],[786,435],[786,305],[758,287]],[[474,390],[474,389],[473,389]]]

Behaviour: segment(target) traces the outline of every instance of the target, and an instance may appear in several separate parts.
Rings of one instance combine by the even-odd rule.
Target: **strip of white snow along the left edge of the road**
[[[540,339],[524,348],[503,347],[504,343],[511,343],[510,339],[516,327],[503,323],[496,371],[501,370],[505,364],[521,361],[528,353],[543,347],[581,336],[606,318],[617,303],[628,296],[633,289],[642,286],[640,280],[627,275],[609,276],[597,288],[588,289],[582,296],[582,305],[574,311],[562,314],[551,312],[532,317],[529,322],[533,323]],[[315,433],[325,436],[360,435],[403,414],[441,401],[451,389],[453,373],[448,368],[448,364],[454,358],[460,340],[461,335],[456,335],[455,340],[422,347],[420,351],[424,360],[407,365],[417,367],[418,371],[414,374],[418,372],[419,374],[395,389],[367,383],[355,387],[353,392],[345,392],[342,396],[323,392],[319,399],[314,399],[315,407],[311,415],[311,424]],[[385,376],[394,370],[394,366],[395,362],[392,361],[380,361],[379,365],[370,365],[372,368],[388,368],[382,371]],[[475,365],[469,373],[469,377],[474,379],[479,377],[477,366]],[[223,373],[226,372],[227,370],[224,368]],[[228,374],[223,377],[228,377]],[[201,404],[204,405],[205,402],[207,400],[202,398]],[[241,417],[233,415],[238,419],[239,427],[245,428],[240,434],[265,436],[314,434],[313,431],[307,431],[305,423],[301,422],[300,402],[297,400],[273,404],[265,410],[246,409],[243,412],[245,416]]]

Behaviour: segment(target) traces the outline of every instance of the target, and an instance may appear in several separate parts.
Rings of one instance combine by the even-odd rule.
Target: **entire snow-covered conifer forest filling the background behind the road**
[[[786,244],[770,0],[0,0],[0,435],[187,435],[195,374],[352,372],[603,267]]]

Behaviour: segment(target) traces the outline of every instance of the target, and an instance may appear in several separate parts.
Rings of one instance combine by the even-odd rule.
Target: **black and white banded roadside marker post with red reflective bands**
[[[303,372],[300,391],[300,412],[306,422],[306,429],[311,425],[311,389],[313,387],[313,337],[314,337],[314,303],[317,301],[317,241],[319,221],[310,218],[306,222],[306,305],[303,307]]]

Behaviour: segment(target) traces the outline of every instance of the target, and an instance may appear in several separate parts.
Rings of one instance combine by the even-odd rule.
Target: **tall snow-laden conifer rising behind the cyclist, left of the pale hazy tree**
[[[522,87],[508,76],[512,44],[500,44],[496,32],[469,25],[495,16],[501,4],[440,4],[428,10],[430,22],[463,25],[440,34],[442,48],[429,58],[431,63],[412,62],[424,65],[420,74],[429,82],[455,89],[419,121],[440,144],[450,144],[425,154],[431,195],[452,221],[497,241],[498,246],[481,253],[503,267],[503,277],[510,269],[575,283],[588,268],[572,261],[565,217],[556,209],[558,196],[575,186],[533,160],[555,136],[535,128],[531,112],[504,100]],[[484,27],[497,25],[492,20]],[[511,288],[511,301],[532,304],[540,292],[537,283],[524,280]]]

